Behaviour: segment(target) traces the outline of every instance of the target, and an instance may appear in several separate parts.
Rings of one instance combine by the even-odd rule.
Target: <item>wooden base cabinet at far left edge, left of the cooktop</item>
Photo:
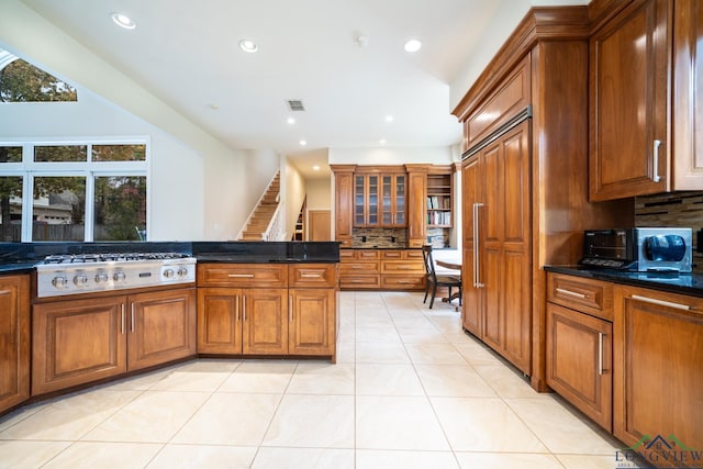
[[[0,413],[30,398],[30,279],[0,277]]]

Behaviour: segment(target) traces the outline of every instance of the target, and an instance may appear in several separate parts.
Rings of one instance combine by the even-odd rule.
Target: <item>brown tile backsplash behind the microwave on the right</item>
[[[703,191],[670,192],[635,198],[635,226],[671,226],[693,230],[693,270],[703,273]],[[702,246],[703,248],[703,246]]]

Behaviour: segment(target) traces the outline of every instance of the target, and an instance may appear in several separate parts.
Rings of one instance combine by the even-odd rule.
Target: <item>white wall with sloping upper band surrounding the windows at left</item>
[[[58,116],[41,129],[35,122],[44,121],[47,108],[7,107],[0,118],[15,126],[3,125],[0,136],[148,135],[149,237],[236,235],[253,209],[252,198],[261,193],[264,176],[258,177],[259,164],[253,160],[265,155],[261,160],[270,161],[268,152],[228,148],[18,0],[0,1],[0,47],[76,86],[79,100],[86,100],[89,90],[105,101],[100,104],[101,99],[89,98],[78,105],[66,103],[60,111],[55,108],[51,113]],[[256,175],[249,178],[252,168]],[[275,168],[270,176],[274,172]]]

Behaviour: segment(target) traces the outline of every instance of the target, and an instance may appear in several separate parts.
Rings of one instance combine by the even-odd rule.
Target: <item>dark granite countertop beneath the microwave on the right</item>
[[[545,270],[671,293],[703,297],[703,275],[699,273],[629,272],[592,269],[583,266],[545,266]]]

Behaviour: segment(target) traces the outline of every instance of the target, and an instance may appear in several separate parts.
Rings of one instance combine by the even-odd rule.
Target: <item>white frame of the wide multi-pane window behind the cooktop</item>
[[[86,161],[34,161],[35,146],[86,145]],[[92,161],[93,145],[145,145],[143,161]],[[0,177],[22,176],[22,228],[21,242],[32,243],[34,208],[34,179],[37,177],[85,177],[86,212],[83,242],[94,241],[94,178],[137,176],[146,178],[146,234],[148,239],[152,221],[150,152],[148,136],[124,136],[110,138],[27,138],[0,139],[0,146],[21,146],[22,161],[0,164]],[[41,243],[41,242],[36,242]],[[67,242],[69,243],[69,242]]]

